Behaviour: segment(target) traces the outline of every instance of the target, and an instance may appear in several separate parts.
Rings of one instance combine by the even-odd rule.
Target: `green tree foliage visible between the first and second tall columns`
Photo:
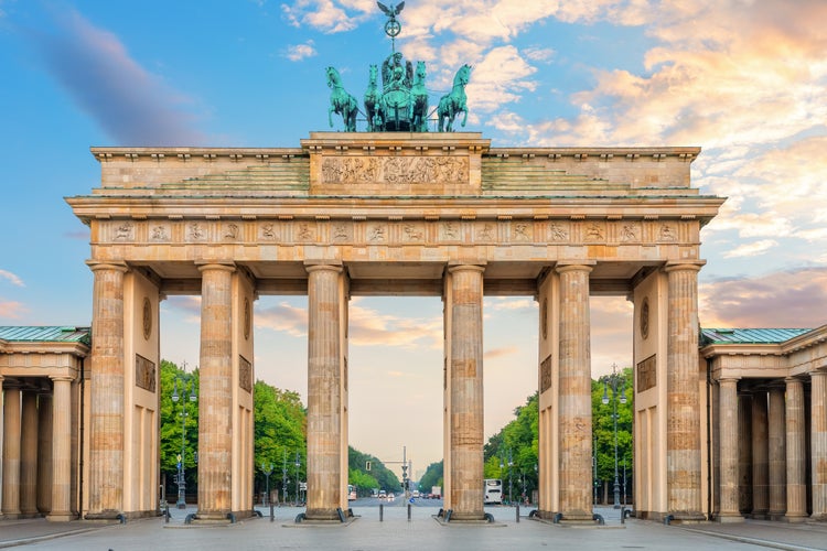
[[[194,386],[194,387],[193,387]],[[198,450],[198,370],[186,372],[165,359],[161,360],[161,476],[167,495],[178,494],[175,476],[181,455],[186,477],[186,493],[196,489]],[[178,401],[172,400],[173,392]],[[192,401],[191,396],[196,399]],[[182,418],[182,411],[184,415]],[[182,433],[184,435],[182,441]],[[182,454],[183,447],[183,454]]]

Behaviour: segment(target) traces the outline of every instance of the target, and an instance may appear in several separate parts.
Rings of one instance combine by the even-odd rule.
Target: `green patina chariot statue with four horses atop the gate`
[[[437,128],[440,132],[452,132],[453,120],[463,112],[461,126],[468,120],[468,105],[465,85],[471,75],[471,66],[463,65],[453,79],[451,91],[439,100],[439,107],[428,112],[428,89],[426,88],[425,62],[414,64],[405,61],[402,54],[396,51],[396,36],[401,31],[401,24],[396,19],[405,2],[396,7],[376,2],[388,17],[385,33],[390,37],[391,50],[382,64],[382,90],[379,90],[379,68],[370,65],[368,69],[367,90],[365,90],[363,116],[367,122],[368,132],[427,132],[428,120],[436,112]],[[356,131],[356,118],[361,112],[356,98],[342,86],[342,78],[333,67],[327,67],[327,86],[331,88],[330,109],[327,120],[333,127],[333,114],[342,116],[345,132]],[[433,120],[433,119],[431,119]]]

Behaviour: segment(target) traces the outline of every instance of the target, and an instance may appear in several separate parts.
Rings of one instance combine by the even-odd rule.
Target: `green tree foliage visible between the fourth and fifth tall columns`
[[[516,419],[491,436],[483,450],[485,478],[500,478],[507,493],[511,476],[514,499],[525,490],[530,497],[537,488],[537,455],[539,446],[539,396],[526,399],[525,406],[514,410]],[[511,463],[511,465],[509,465]],[[502,466],[501,466],[502,465]],[[507,495],[507,494],[506,494]]]

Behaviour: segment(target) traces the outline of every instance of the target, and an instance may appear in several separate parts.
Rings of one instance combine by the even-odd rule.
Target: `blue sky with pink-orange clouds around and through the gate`
[[[390,4],[391,2],[385,2]],[[396,47],[431,104],[472,65],[463,130],[493,147],[698,145],[727,197],[701,231],[705,327],[827,323],[827,2],[408,0]],[[361,97],[390,52],[372,0],[0,0],[0,325],[89,325],[90,147],[298,147],[324,68]],[[414,473],[442,455],[442,304],[354,298],[350,442]],[[632,363],[631,305],[592,300],[592,376]],[[484,303],[485,437],[537,388],[537,305]],[[307,298],[255,305],[256,376],[307,397]],[[161,306],[161,354],[198,361],[198,299]],[[382,422],[377,422],[380,419]]]

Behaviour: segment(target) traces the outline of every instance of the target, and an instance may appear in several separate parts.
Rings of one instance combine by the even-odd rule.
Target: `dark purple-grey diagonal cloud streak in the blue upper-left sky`
[[[50,33],[29,32],[46,69],[75,104],[117,142],[193,145],[205,142],[186,111],[192,99],[141,67],[112,33],[68,9]]]

